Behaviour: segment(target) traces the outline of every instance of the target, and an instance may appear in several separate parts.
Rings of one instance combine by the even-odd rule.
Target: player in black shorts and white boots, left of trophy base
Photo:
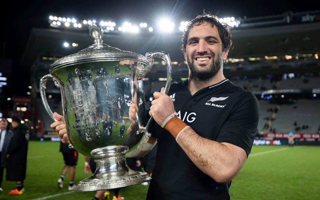
[[[69,148],[68,144],[64,144],[60,141],[60,149],[62,153],[64,166],[62,167],[60,178],[58,179],[58,188],[63,188],[63,180],[67,172],[69,171],[69,186],[68,190],[74,190],[75,176],[76,176],[76,165],[78,164],[78,152],[74,148]]]

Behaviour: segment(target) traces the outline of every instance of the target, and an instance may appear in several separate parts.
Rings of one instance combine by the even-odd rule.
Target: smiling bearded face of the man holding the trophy
[[[186,51],[183,51],[183,54],[190,70],[189,78],[208,81],[222,68],[223,60],[227,59],[228,50],[222,52],[218,29],[204,23],[193,26],[190,30]]]

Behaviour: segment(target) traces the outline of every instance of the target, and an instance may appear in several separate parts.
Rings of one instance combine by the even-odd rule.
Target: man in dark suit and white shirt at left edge
[[[0,121],[0,192],[3,180],[3,172],[7,163],[7,150],[12,138],[13,132],[8,130],[8,121],[2,118]]]

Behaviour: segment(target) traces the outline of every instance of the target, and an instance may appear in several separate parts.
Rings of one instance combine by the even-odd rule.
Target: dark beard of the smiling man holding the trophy
[[[206,82],[214,78],[220,68],[223,65],[223,58],[222,58],[222,52],[219,52],[217,56],[213,56],[213,54],[197,54],[199,56],[209,55],[212,58],[212,62],[209,65],[209,67],[205,67],[207,64],[199,64],[199,68],[195,66],[195,56],[192,55],[191,59],[187,55],[187,65],[190,70],[190,77],[189,79],[195,79],[196,81]]]

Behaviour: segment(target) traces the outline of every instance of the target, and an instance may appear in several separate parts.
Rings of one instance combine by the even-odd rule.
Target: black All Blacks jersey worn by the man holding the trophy
[[[168,92],[177,116],[200,136],[234,144],[249,155],[259,122],[257,98],[228,79],[193,96],[187,83],[172,84]],[[148,131],[157,137],[158,149],[147,199],[230,199],[231,182],[219,184],[204,174],[160,125],[150,124]]]

